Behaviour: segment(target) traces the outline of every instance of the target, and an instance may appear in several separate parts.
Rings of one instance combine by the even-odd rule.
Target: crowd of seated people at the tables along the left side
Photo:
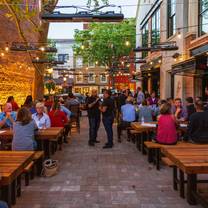
[[[72,93],[66,101],[62,97],[54,99],[53,96],[33,101],[32,96],[27,96],[21,107],[10,96],[0,113],[0,128],[13,129],[13,150],[35,150],[35,133],[38,129],[49,127],[64,127],[64,142],[67,143],[70,117],[73,116],[70,106],[75,104],[79,101]]]

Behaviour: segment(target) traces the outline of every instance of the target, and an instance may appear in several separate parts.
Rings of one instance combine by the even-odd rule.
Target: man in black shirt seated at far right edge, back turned
[[[208,112],[202,101],[196,102],[196,113],[190,116],[187,133],[194,143],[208,143]]]

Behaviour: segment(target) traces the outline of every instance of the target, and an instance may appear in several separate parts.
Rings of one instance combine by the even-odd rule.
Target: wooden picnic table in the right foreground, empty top
[[[180,195],[184,196],[184,174],[187,174],[187,202],[194,205],[198,201],[204,207],[208,207],[208,203],[197,193],[197,182],[207,182],[197,180],[197,175],[208,174],[208,145],[162,147],[161,151],[180,170]],[[173,181],[175,182],[175,178]]]

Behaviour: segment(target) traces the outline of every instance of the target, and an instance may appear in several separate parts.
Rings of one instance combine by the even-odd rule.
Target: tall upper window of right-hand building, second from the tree
[[[160,9],[158,9],[152,16],[152,45],[160,42]]]

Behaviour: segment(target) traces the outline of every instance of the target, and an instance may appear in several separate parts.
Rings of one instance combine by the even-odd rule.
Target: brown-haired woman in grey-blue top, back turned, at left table
[[[25,107],[20,108],[13,126],[12,150],[35,150],[37,144],[34,135],[37,130],[30,111]]]

